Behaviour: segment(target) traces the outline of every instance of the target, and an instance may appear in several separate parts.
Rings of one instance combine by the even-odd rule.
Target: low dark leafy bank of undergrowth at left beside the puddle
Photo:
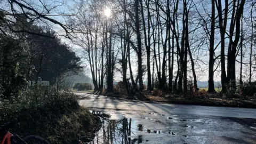
[[[0,124],[17,119],[11,132],[39,135],[50,143],[89,142],[100,124],[97,116],[79,106],[77,95],[50,87],[33,87],[17,98],[2,99],[0,111]]]

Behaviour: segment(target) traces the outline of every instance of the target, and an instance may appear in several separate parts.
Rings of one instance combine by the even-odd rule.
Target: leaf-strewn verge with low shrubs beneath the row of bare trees
[[[203,91],[205,90],[205,91]],[[147,102],[161,102],[161,103],[177,103],[186,105],[202,105],[202,106],[225,106],[225,107],[244,107],[256,108],[256,97],[250,95],[242,95],[239,93],[225,94],[221,93],[221,89],[215,89],[216,93],[207,93],[207,89],[201,89],[198,92],[188,91],[187,96],[184,97],[183,93],[170,94],[167,91],[154,89],[151,92],[144,91],[140,95],[124,95],[114,94],[113,97],[119,99],[140,100]]]

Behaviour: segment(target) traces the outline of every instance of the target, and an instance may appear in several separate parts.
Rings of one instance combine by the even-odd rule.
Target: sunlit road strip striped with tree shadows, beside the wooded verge
[[[195,114],[223,117],[238,118],[256,118],[256,109],[250,108],[231,108],[231,107],[209,107],[195,105],[171,105],[164,103],[148,103],[118,100],[93,94],[77,93],[83,97],[79,103],[85,107],[101,109],[122,109],[122,110],[139,110],[150,111],[155,113],[178,113],[178,114]]]

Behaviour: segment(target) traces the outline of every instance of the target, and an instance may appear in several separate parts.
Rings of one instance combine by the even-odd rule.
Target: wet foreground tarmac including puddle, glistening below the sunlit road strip
[[[256,143],[252,118],[91,109],[102,127],[94,143]]]

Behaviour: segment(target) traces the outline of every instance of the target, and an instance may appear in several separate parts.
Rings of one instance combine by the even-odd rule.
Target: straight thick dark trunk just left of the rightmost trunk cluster
[[[215,35],[215,3],[212,0],[212,16],[211,16],[211,35],[209,48],[209,75],[208,75],[208,91],[215,92],[214,89],[214,35]]]

